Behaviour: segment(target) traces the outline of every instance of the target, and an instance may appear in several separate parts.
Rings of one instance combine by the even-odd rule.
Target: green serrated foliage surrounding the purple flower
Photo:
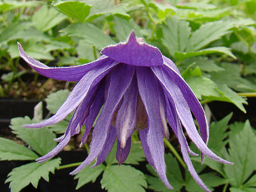
[[[1,76],[0,95],[8,97],[17,83],[27,86],[21,77],[31,70],[20,64],[17,41],[29,56],[45,64],[79,65],[98,58],[103,47],[125,41],[134,29],[137,36],[175,62],[202,104],[229,102],[246,112],[246,97],[256,94],[255,11],[255,0],[2,0],[0,69],[7,72]],[[38,74],[33,74],[35,83]],[[60,90],[49,95],[47,109],[54,114],[68,94],[68,90]],[[192,160],[197,173],[213,190],[256,191],[255,129],[249,120],[228,125],[231,116],[211,123],[209,148],[235,164],[222,165],[207,157],[204,165],[197,157]],[[1,137],[0,159],[32,160],[9,173],[6,182],[10,182],[12,192],[29,183],[37,187],[41,177],[48,181],[49,172],[61,168],[60,158],[42,164],[33,160],[56,146],[53,139],[65,132],[69,119],[42,129],[21,127],[35,119],[12,119],[12,132],[29,148]],[[100,176],[101,187],[109,192],[143,192],[145,188],[203,191],[168,149],[167,177],[173,190],[164,186],[150,165],[146,166],[147,173],[131,166],[145,160],[136,134],[133,141],[124,165],[116,165],[114,147],[104,164],[93,169],[88,166],[75,176],[76,188]],[[196,151],[193,144],[191,148]]]

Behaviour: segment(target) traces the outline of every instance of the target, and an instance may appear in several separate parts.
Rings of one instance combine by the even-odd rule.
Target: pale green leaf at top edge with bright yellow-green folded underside
[[[87,22],[96,19],[101,15],[122,15],[125,17],[130,17],[130,15],[124,11],[124,6],[115,6],[110,0],[85,0],[84,2],[92,5],[90,14],[86,19]]]

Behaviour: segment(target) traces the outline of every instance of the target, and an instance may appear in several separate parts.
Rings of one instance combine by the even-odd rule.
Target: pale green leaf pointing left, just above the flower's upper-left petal
[[[110,36],[104,34],[103,31],[91,23],[73,23],[62,29],[61,32],[66,32],[69,36],[84,38],[83,41],[91,43],[99,49],[110,44],[116,44]]]

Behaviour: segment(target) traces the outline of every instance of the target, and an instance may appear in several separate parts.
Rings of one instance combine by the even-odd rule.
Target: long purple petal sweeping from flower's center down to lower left
[[[76,174],[100,154],[107,139],[107,132],[110,127],[112,116],[121,101],[122,96],[132,82],[134,71],[134,66],[125,64],[119,64],[111,71],[107,100],[92,132],[90,153],[84,162],[70,174]],[[122,76],[120,76],[120,74],[122,74]]]

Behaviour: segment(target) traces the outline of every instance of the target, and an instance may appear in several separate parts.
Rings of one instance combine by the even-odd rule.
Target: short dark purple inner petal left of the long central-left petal
[[[89,135],[89,133],[92,129],[93,123],[94,123],[97,115],[99,114],[100,109],[101,109],[101,107],[104,103],[104,100],[103,100],[104,89],[105,89],[105,86],[104,86],[104,84],[102,84],[100,86],[99,91],[97,92],[97,94],[95,96],[95,99],[94,99],[91,107],[90,107],[89,115],[88,115],[88,117],[86,117],[86,119],[84,121],[84,125],[85,125],[86,130],[84,132],[81,145],[84,145],[84,143],[87,142],[87,137],[88,137],[88,135]]]

